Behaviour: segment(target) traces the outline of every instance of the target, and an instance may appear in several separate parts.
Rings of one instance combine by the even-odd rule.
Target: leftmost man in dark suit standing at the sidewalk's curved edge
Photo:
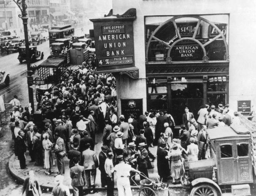
[[[20,169],[28,169],[26,167],[26,159],[25,159],[25,153],[26,153],[26,144],[25,144],[25,141],[23,139],[25,133],[20,130],[18,132],[18,136],[16,137],[16,142],[15,144],[17,145],[17,156],[18,156],[18,159],[20,161]]]

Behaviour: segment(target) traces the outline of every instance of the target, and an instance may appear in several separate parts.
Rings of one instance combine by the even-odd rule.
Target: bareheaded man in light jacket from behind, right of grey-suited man
[[[82,153],[82,164],[84,165],[85,177],[87,188],[94,188],[95,178],[96,178],[96,168],[98,167],[98,159],[94,151],[90,150],[90,144],[85,145],[85,150]],[[92,176],[92,182],[91,182]]]

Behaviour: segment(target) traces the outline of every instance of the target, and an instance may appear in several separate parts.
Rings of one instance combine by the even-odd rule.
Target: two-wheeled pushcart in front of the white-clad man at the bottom
[[[137,184],[134,180],[136,175],[140,175],[145,178],[140,180],[140,185]],[[139,196],[170,196],[168,190],[169,184],[164,184],[158,180],[158,178],[158,182],[156,182],[155,180],[148,178],[144,173],[138,173],[136,175],[132,176],[132,181],[140,189]]]

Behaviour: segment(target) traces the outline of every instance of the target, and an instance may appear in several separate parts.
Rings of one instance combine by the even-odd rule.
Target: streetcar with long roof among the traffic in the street
[[[74,27],[72,25],[57,25],[52,27],[49,30],[49,44],[56,42],[56,39],[68,38],[72,39],[72,35],[74,35]]]

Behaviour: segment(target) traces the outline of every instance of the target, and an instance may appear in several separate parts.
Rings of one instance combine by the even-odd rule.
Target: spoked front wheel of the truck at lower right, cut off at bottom
[[[190,196],[218,196],[218,192],[209,184],[200,184],[192,188]]]

